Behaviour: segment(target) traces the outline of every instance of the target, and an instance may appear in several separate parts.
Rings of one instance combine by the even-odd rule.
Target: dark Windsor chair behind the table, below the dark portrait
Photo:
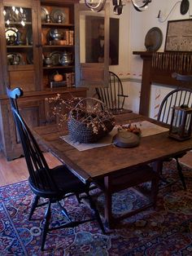
[[[98,99],[102,100],[114,115],[132,112],[124,108],[124,100],[129,96],[124,95],[122,82],[116,73],[109,71],[109,86],[97,87],[96,92]]]

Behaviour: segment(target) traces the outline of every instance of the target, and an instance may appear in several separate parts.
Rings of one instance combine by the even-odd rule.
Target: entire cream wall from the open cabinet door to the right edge
[[[126,1],[124,1],[126,2]],[[133,55],[133,51],[146,51],[145,37],[149,29],[158,27],[163,33],[163,42],[159,51],[164,51],[164,42],[168,20],[189,19],[192,15],[192,0],[190,0],[190,11],[180,14],[181,1],[176,0],[152,0],[146,11],[135,11],[130,2],[126,2],[124,12],[120,15],[120,64],[111,66],[111,71],[117,73],[124,84],[124,92],[129,95],[126,102],[127,108],[132,108],[134,112],[139,109],[139,96],[142,79],[142,59],[138,55]],[[157,15],[161,11],[160,19]],[[172,11],[171,11],[172,10]],[[169,12],[171,11],[170,15]],[[112,7],[111,7],[111,15]],[[165,20],[165,18],[168,18]],[[192,17],[191,17],[192,18]],[[162,22],[165,20],[164,22]],[[169,86],[151,86],[151,110],[150,117],[155,117],[158,108],[155,108],[164,98]]]

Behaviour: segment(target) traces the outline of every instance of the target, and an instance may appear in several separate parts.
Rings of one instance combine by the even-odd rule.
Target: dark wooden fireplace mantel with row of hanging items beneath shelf
[[[133,51],[133,55],[140,55],[143,60],[142,88],[139,113],[149,115],[151,84],[162,86],[191,87],[172,77],[172,73],[192,74],[192,53],[181,52],[148,52]]]

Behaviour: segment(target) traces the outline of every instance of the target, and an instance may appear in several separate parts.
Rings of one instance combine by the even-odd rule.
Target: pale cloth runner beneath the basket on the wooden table
[[[142,130],[142,137],[159,134],[168,130],[167,128],[164,128],[162,126],[157,126],[151,123],[150,121],[134,122],[132,123],[132,125],[136,125],[138,128]],[[124,126],[129,126],[129,124]],[[63,139],[65,142],[69,143],[70,145],[72,145],[74,148],[78,149],[79,151],[84,151],[91,148],[99,148],[111,145],[112,138],[114,135],[116,135],[116,133],[117,126],[115,126],[107,136],[105,136],[103,139],[100,139],[97,143],[74,142],[72,141],[69,135],[60,136],[60,138]]]

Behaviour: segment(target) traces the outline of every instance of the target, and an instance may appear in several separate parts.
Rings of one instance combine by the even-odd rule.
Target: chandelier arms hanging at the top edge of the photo
[[[127,0],[128,1],[128,0]],[[131,0],[133,7],[137,11],[144,11],[148,7],[148,4],[152,0]],[[91,11],[102,11],[107,0],[85,0],[85,5],[89,7]],[[123,0],[112,0],[113,12],[116,15],[120,15],[123,11],[124,1]]]

